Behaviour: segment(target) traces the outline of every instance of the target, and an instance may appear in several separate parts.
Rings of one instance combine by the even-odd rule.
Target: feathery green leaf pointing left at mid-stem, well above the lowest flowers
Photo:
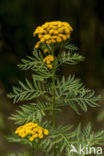
[[[8,94],[9,98],[13,98],[13,102],[27,101],[44,95],[47,91],[44,84],[41,84],[33,77],[33,84],[26,79],[26,83],[19,81],[20,87],[13,87],[13,92]]]

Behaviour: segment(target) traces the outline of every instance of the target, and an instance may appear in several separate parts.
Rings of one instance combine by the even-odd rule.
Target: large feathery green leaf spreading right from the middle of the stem
[[[96,107],[100,96],[95,96],[95,92],[86,89],[79,79],[69,76],[65,81],[63,77],[61,81],[57,80],[56,85],[56,101],[60,106],[70,105],[74,111],[79,114],[78,106],[87,111],[87,107]]]

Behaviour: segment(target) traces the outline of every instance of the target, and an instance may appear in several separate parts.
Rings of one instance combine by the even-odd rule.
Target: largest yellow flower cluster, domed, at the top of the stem
[[[39,41],[35,48],[39,48],[41,43],[51,44],[60,43],[70,38],[72,27],[67,22],[53,21],[46,22],[35,29],[33,36],[38,35]]]

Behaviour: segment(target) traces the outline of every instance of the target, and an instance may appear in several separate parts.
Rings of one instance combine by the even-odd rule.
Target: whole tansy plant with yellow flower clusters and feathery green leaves
[[[70,24],[61,21],[37,27],[33,33],[37,39],[33,55],[18,65],[22,70],[32,71],[32,82],[27,78],[25,83],[19,81],[18,87],[8,94],[14,103],[23,102],[10,117],[18,128],[9,141],[29,144],[31,156],[37,149],[45,156],[77,156],[72,145],[78,150],[79,144],[88,147],[104,144],[104,131],[92,132],[91,124],[82,130],[80,124],[75,128],[56,122],[64,107],[80,114],[80,109],[87,112],[88,107],[97,107],[100,99],[75,76],[66,79],[61,73],[63,64],[74,65],[84,60],[70,43],[72,31]]]

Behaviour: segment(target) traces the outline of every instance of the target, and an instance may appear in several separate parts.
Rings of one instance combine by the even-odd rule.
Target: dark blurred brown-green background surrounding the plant
[[[21,151],[23,146],[8,143],[5,135],[15,129],[8,121],[18,105],[13,105],[6,94],[11,86],[30,73],[20,71],[17,64],[21,58],[32,55],[33,31],[46,21],[61,20],[71,24],[74,31],[72,42],[78,52],[86,57],[85,62],[63,68],[63,73],[75,74],[84,84],[104,95],[104,4],[103,0],[0,0],[0,156]],[[65,109],[59,118],[63,123],[86,124],[91,120],[94,129],[104,128],[104,101],[101,107],[89,108],[77,116]],[[70,113],[70,116],[69,116]],[[6,150],[5,150],[6,149]]]

